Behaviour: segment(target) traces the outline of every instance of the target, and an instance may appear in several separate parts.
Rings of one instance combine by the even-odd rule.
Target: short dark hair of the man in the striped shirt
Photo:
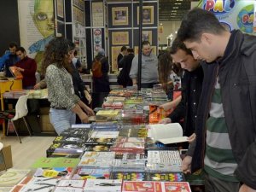
[[[177,32],[177,38],[181,41],[199,42],[203,32],[212,34],[222,34],[226,31],[212,12],[195,8],[184,16],[180,28]]]

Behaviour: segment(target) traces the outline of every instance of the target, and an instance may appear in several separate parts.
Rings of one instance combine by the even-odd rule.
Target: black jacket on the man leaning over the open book
[[[193,72],[184,71],[182,78],[182,100],[177,108],[168,116],[172,123],[184,119],[183,135],[190,136],[195,132],[195,119],[198,102],[201,96],[201,86],[204,74],[202,67],[198,67]]]

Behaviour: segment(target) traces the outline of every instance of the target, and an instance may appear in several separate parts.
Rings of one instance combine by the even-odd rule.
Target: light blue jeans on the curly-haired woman
[[[50,108],[49,121],[60,135],[62,131],[71,128],[71,125],[76,123],[76,114],[70,110]]]

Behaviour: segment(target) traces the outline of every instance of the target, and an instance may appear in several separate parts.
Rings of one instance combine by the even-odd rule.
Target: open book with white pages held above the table
[[[183,128],[178,123],[148,125],[148,137],[154,142],[163,144],[188,142],[188,137],[183,137]]]

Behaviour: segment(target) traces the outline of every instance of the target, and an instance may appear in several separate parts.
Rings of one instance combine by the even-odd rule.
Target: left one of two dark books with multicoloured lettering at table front
[[[124,181],[145,181],[147,180],[145,172],[112,172],[112,179],[123,179]]]

